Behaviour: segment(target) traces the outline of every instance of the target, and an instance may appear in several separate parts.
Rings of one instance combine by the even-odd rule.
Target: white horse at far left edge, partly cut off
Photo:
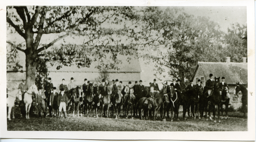
[[[14,111],[12,111],[12,107],[14,107],[16,99],[19,99],[19,101],[21,101],[21,99],[22,99],[21,91],[18,89],[13,90],[12,92],[8,93],[8,98],[7,98],[7,107],[8,107],[7,119],[8,120],[11,120],[11,112],[12,112],[12,118],[15,119]]]

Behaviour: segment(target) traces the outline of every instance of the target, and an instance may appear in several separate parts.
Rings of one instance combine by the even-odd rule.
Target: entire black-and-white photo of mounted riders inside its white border
[[[5,8],[7,132],[255,125],[247,6]]]

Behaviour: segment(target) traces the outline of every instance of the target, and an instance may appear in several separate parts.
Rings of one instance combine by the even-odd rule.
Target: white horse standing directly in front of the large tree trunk
[[[32,104],[32,96],[38,95],[38,88],[35,84],[33,84],[31,87],[29,87],[29,90],[24,94],[24,103],[25,103],[25,109],[26,109],[26,119],[29,119],[29,110]]]

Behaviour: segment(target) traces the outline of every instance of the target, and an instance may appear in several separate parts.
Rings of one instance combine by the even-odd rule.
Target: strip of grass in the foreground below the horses
[[[228,119],[217,119],[213,122],[207,119],[182,119],[180,121],[160,121],[158,114],[157,121],[134,119],[113,119],[94,117],[73,117],[67,119],[58,118],[37,118],[29,120],[23,118],[7,121],[7,130],[43,130],[43,131],[247,131],[247,119],[241,118],[242,113],[230,112]],[[220,120],[220,122],[218,122]]]

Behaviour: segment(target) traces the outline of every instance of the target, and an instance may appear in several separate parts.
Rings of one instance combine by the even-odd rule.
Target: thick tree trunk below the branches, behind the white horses
[[[26,84],[30,87],[32,84],[35,84],[36,76],[36,61],[35,55],[26,54]]]

